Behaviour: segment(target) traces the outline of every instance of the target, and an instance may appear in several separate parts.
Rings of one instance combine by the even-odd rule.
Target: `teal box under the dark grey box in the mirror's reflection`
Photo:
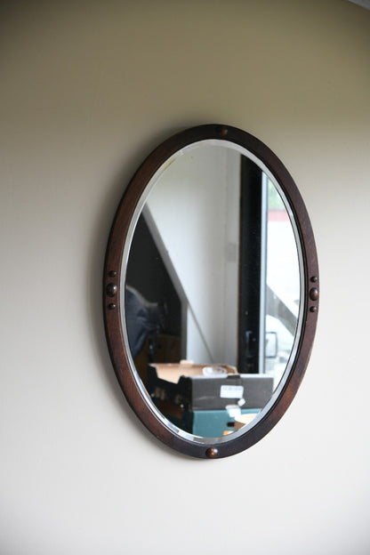
[[[244,408],[239,414],[258,414],[259,408]],[[193,434],[204,438],[219,438],[225,431],[234,430],[234,411],[201,410],[193,411]]]

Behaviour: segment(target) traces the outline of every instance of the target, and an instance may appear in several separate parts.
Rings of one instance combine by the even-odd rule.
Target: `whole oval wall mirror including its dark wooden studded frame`
[[[104,317],[118,382],[181,453],[252,446],[285,413],[318,315],[309,216],[261,141],[200,125],[155,149],[118,206]]]

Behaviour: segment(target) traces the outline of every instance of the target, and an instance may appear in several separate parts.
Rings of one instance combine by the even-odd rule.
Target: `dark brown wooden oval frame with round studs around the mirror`
[[[303,296],[301,334],[294,362],[286,376],[284,386],[278,392],[273,404],[262,415],[261,420],[244,433],[236,434],[235,437],[233,437],[234,434],[230,434],[221,442],[212,442],[212,439],[209,440],[209,438],[202,442],[201,438],[182,437],[180,433],[166,425],[164,419],[159,417],[157,409],[151,403],[146,391],[139,386],[139,378],[133,368],[129,347],[125,343],[121,311],[121,297],[125,294],[121,291],[125,244],[130,238],[128,237],[130,223],[142,194],[153,175],[168,158],[194,142],[209,139],[230,141],[239,145],[257,157],[272,173],[294,214],[302,251],[300,273],[303,274],[301,277],[301,294]],[[117,380],[135,414],[158,439],[182,454],[200,458],[221,458],[237,454],[253,446],[275,426],[291,404],[309,362],[318,319],[318,256],[315,240],[306,207],[286,167],[266,145],[253,135],[229,125],[211,124],[191,127],[160,144],[133,175],[118,206],[110,231],[104,265],[103,307],[109,354]],[[272,398],[274,396],[275,393]]]

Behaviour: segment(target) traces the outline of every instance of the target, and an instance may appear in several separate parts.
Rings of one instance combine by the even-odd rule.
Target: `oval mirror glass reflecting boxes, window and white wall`
[[[253,422],[294,349],[293,216],[252,158],[201,141],[168,160],[149,184],[124,272],[137,374],[165,418],[198,437]]]

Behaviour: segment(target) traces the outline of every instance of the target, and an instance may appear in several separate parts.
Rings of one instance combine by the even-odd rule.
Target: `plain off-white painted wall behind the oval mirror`
[[[1,8],[0,551],[365,555],[370,12],[345,0]],[[317,341],[245,453],[157,443],[109,362],[101,273],[125,183],[189,125],[285,162],[321,269]]]

